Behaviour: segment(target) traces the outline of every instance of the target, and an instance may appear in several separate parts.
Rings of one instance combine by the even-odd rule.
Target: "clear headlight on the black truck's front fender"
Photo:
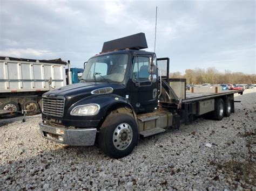
[[[96,103],[78,105],[70,112],[70,115],[96,115],[99,112],[99,105]]]

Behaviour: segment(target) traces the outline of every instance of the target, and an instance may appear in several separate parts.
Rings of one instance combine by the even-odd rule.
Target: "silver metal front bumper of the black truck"
[[[97,132],[96,128],[64,129],[55,128],[43,123],[39,123],[39,128],[44,138],[75,146],[94,145]]]

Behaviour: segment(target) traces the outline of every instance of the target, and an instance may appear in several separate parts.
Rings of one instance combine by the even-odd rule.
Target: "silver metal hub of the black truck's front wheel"
[[[125,150],[132,142],[132,128],[128,123],[117,125],[113,132],[113,144],[118,150]]]

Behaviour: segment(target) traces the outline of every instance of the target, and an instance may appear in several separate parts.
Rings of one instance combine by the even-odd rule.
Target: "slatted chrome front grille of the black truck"
[[[43,97],[43,114],[62,117],[64,112],[64,97]]]

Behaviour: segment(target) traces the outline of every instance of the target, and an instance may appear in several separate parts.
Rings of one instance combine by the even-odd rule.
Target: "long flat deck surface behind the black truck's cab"
[[[181,103],[190,103],[194,101],[207,100],[223,95],[242,93],[244,90],[223,90],[221,93],[191,93],[186,91],[186,99],[182,100]]]

